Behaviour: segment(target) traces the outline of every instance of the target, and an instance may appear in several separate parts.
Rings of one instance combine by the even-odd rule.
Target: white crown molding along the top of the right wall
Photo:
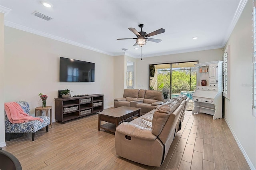
[[[246,5],[248,0],[240,0],[239,4],[238,4],[238,7],[236,9],[236,13],[233,17],[233,20],[228,28],[228,31],[226,33],[226,36],[224,37],[224,40],[222,42],[222,48],[226,45],[226,43],[228,42],[228,38],[230,37],[232,31],[234,30],[235,26],[236,26],[236,23],[238,21],[238,19],[240,18],[243,10],[244,10],[244,7]]]

